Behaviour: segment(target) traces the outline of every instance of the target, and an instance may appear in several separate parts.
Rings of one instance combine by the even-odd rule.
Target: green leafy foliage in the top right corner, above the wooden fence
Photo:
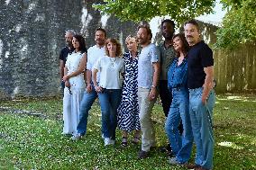
[[[216,47],[235,49],[245,43],[256,42],[255,0],[224,0],[226,13],[223,26],[217,31]]]

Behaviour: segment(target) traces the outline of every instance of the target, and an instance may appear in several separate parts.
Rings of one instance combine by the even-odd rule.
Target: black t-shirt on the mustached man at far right
[[[190,89],[202,87],[206,73],[204,67],[214,66],[213,51],[201,40],[187,53],[187,86]]]

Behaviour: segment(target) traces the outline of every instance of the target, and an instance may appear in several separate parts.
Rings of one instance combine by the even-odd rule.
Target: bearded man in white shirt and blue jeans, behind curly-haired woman
[[[105,38],[105,30],[102,28],[96,29],[96,45],[90,47],[87,50],[87,89],[80,103],[77,133],[73,134],[73,137],[71,139],[81,139],[87,132],[88,112],[91,109],[91,106],[93,105],[97,97],[96,89],[92,82],[92,68],[95,65],[96,60],[98,58],[102,58],[105,56]],[[99,77],[97,77],[97,82],[99,82]]]

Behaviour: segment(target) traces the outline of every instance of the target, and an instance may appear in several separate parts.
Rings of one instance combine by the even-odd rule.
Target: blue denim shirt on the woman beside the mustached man
[[[173,60],[168,70],[168,87],[187,88],[187,58],[184,58],[180,65],[178,65],[178,58]]]

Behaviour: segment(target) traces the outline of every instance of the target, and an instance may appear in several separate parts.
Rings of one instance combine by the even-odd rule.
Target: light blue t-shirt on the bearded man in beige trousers
[[[138,87],[151,88],[153,81],[153,63],[160,62],[160,51],[151,43],[142,48],[138,61]]]

